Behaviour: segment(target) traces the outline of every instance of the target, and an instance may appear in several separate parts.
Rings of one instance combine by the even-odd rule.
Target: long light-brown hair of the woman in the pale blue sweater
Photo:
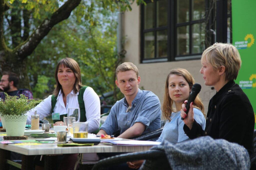
[[[174,101],[170,98],[169,90],[168,90],[169,77],[172,74],[184,77],[184,79],[187,81],[187,83],[189,85],[189,89],[191,89],[192,86],[195,84],[195,80],[194,80],[193,76],[186,69],[177,68],[177,69],[170,70],[170,72],[166,78],[164,102],[162,105],[163,116],[168,121],[171,121],[170,115],[172,114],[172,112],[177,112],[177,110],[173,107]],[[200,99],[199,95],[197,95],[197,97],[193,103],[193,106],[195,108],[200,109],[204,114],[204,104],[202,103],[202,100]]]

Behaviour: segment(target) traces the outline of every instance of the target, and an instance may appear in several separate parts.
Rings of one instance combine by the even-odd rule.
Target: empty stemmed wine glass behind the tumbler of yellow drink
[[[70,135],[73,135],[74,122],[80,122],[80,108],[68,108],[68,131]]]

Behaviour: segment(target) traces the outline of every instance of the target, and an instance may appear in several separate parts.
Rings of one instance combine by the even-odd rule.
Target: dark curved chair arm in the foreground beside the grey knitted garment
[[[149,150],[145,152],[125,153],[100,160],[93,166],[92,170],[104,169],[113,166],[113,164],[116,165],[135,160],[151,161],[150,167],[147,167],[148,169],[171,169],[164,151]]]

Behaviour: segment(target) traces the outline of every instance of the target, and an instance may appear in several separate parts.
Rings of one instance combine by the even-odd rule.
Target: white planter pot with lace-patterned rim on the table
[[[6,136],[24,136],[27,115],[3,115]]]

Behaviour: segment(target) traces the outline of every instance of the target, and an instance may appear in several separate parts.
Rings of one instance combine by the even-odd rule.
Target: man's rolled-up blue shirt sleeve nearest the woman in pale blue
[[[147,129],[150,123],[161,116],[161,104],[157,96],[151,95],[146,98],[142,107],[143,109],[138,113],[138,117],[134,123],[143,123]]]

